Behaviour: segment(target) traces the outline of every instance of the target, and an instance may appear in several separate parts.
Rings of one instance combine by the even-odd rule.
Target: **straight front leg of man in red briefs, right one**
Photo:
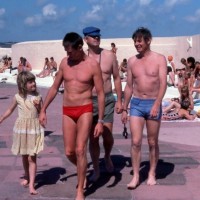
[[[87,143],[92,126],[92,113],[84,113],[77,122],[76,157],[77,157],[77,200],[84,199],[83,189],[87,170]]]

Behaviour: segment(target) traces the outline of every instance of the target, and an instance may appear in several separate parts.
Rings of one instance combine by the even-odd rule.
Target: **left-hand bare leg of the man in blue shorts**
[[[131,129],[131,160],[133,167],[133,178],[129,184],[128,189],[134,189],[139,184],[139,170],[141,161],[141,145],[142,135],[145,120],[142,117],[130,116]]]

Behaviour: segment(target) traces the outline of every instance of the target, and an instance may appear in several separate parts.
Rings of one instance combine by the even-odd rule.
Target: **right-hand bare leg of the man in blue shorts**
[[[156,184],[156,166],[159,158],[158,135],[160,129],[160,120],[147,120],[147,138],[149,144],[150,170],[147,184]]]

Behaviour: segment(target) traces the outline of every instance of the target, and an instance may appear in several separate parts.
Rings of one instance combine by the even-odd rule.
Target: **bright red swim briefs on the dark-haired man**
[[[72,118],[75,122],[79,117],[88,112],[93,112],[93,104],[86,104],[83,106],[63,106],[63,115],[67,115]]]

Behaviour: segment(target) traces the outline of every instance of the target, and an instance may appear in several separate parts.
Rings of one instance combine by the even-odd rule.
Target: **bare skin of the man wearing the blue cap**
[[[117,102],[115,104],[115,111],[116,113],[119,114],[122,112],[122,88],[121,88],[121,80],[119,76],[116,55],[113,52],[106,49],[102,49],[100,47],[99,36],[85,36],[84,40],[88,45],[89,57],[95,59],[98,63],[100,63],[105,94],[109,94],[112,92],[111,75],[113,75],[115,90],[118,97]],[[95,89],[93,89],[93,96],[96,96]],[[104,132],[102,134],[102,137],[103,137],[103,145],[104,145],[104,150],[105,150],[104,160],[105,160],[106,169],[108,172],[112,172],[114,170],[114,166],[110,158],[111,150],[114,144],[114,139],[112,135],[112,127],[113,127],[113,123],[104,122]],[[90,146],[90,155],[92,158],[93,168],[94,168],[94,173],[90,180],[97,181],[98,178],[100,177],[99,137],[93,137],[93,135],[90,134],[89,146]]]

